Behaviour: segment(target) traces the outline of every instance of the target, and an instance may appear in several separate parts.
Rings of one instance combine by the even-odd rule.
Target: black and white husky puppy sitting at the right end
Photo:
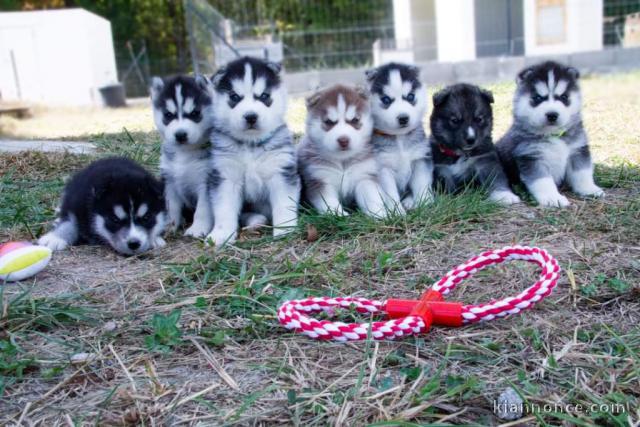
[[[575,68],[552,61],[518,75],[513,125],[498,152],[512,181],[522,182],[541,206],[568,206],[558,190],[565,183],[580,196],[604,195],[593,180],[579,77]]]

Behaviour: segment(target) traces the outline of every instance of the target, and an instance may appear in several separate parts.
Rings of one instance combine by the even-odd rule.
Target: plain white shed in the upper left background
[[[43,105],[101,105],[117,82],[111,23],[84,9],[0,13],[0,96]]]

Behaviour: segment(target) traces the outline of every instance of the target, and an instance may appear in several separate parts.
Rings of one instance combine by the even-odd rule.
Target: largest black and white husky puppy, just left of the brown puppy
[[[279,64],[244,57],[212,78],[209,184],[215,226],[208,240],[216,246],[235,241],[243,208],[271,220],[274,236],[297,224],[300,177],[280,71]]]

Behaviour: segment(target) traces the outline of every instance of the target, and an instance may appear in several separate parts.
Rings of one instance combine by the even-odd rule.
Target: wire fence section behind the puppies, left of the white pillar
[[[376,40],[393,37],[392,0],[280,4],[185,0],[194,70],[212,71],[242,54],[271,57],[289,71],[361,66],[372,62]]]

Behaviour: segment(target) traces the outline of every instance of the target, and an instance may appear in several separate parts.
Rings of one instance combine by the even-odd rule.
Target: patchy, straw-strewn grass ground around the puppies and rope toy
[[[511,387],[530,409],[525,425],[637,425],[638,82],[630,73],[583,83],[603,200],[507,210],[468,191],[385,221],[305,211],[288,237],[243,232],[225,251],[174,235],[134,258],[86,246],[56,254],[36,279],[0,285],[0,422],[495,425],[494,401]],[[492,89],[500,135],[513,86]],[[289,112],[297,132],[301,108]],[[91,112],[92,127],[78,130],[53,127],[73,111],[39,111],[11,134],[90,140],[100,156],[156,169],[148,111],[127,111]],[[45,230],[65,179],[91,160],[0,155],[0,237]],[[358,344],[311,341],[277,323],[291,298],[414,298],[469,257],[512,243],[546,248],[564,271],[551,297],[517,317]],[[449,299],[514,295],[535,274],[520,264],[483,271]]]

